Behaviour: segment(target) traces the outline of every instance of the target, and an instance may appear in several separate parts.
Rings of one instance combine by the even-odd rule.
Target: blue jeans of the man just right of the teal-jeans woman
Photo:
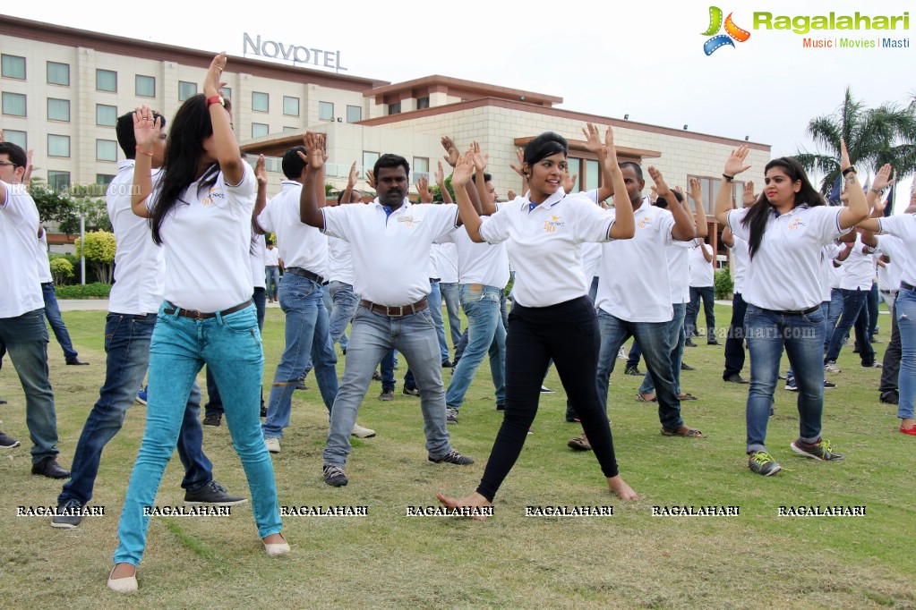
[[[328,333],[328,310],[321,284],[287,272],[280,281],[280,309],[286,314],[286,348],[274,374],[267,402],[265,438],[282,438],[289,425],[292,393],[311,354],[324,406],[337,396],[337,353]],[[372,371],[369,371],[370,375]]]

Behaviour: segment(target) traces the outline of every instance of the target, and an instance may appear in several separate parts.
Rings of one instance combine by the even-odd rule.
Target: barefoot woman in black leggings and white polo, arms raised
[[[486,508],[515,465],[538,412],[540,384],[553,360],[569,401],[582,421],[610,490],[621,499],[635,499],[617,469],[614,441],[607,414],[598,397],[595,376],[600,334],[594,305],[582,266],[582,244],[588,241],[631,239],[635,233],[633,208],[626,197],[623,173],[617,166],[614,138],[608,127],[606,162],[614,192],[615,211],[601,209],[579,194],[567,194],[561,184],[567,173],[569,146],[558,134],[547,132],[525,147],[522,171],[529,192],[482,219],[464,186],[474,173],[472,154],[455,166],[452,184],[458,209],[471,241],[507,242],[509,260],[516,269],[515,303],[506,337],[506,411],[483,479],[467,498],[439,500],[449,508]],[[605,155],[607,158],[605,159]],[[470,516],[483,519],[486,511]]]

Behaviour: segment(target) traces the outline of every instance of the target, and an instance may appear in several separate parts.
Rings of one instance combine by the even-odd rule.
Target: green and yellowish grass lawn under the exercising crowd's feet
[[[717,306],[727,324],[729,307]],[[60,464],[70,466],[82,424],[104,378],[104,312],[68,312],[64,319],[89,367],[66,367],[49,344],[57,401]],[[889,339],[881,316],[878,358]],[[264,333],[269,387],[283,348],[283,319],[268,309]],[[269,558],[257,539],[250,505],[227,518],[153,518],[138,570],[140,593],[118,597],[104,586],[116,545],[126,483],[143,433],[145,407],[127,413],[107,445],[90,506],[104,517],[74,530],[52,530],[48,517],[16,517],[20,506],[53,506],[60,482],[29,474],[22,389],[9,359],[0,373],[0,426],[23,445],[0,454],[0,599],[5,607],[569,607],[569,608],[871,608],[916,607],[913,542],[916,517],[911,437],[897,432],[896,408],[878,402],[875,369],[861,369],[852,348],[828,375],[824,433],[843,454],[820,463],[791,453],[798,433],[796,395],[776,393],[769,450],[777,476],[747,469],[746,385],[721,379],[723,348],[688,348],[696,371],[682,374],[687,423],[709,438],[663,437],[656,410],[635,400],[639,379],[617,362],[609,394],[616,454],[640,494],[622,504],[607,491],[591,453],[566,442],[581,432],[563,417],[565,396],[556,371],[515,469],[485,522],[407,517],[408,507],[435,503],[435,494],[474,490],[496,436],[489,370],[478,370],[450,425],[454,446],[474,466],[431,465],[423,448],[418,399],[400,393],[376,400],[373,383],[359,423],[376,438],[354,440],[350,485],[322,482],[327,412],[314,378],[293,398],[292,420],[274,456],[281,505],[365,506],[366,517],[287,517],[292,552]],[[785,362],[784,362],[785,364]],[[403,377],[403,359],[398,371]],[[645,364],[640,363],[640,369]],[[343,373],[344,363],[338,366]],[[749,376],[749,369],[745,369]],[[444,373],[446,382],[449,373]],[[203,378],[201,377],[203,384]],[[249,495],[225,424],[204,429],[214,476]],[[158,506],[183,498],[180,462],[172,459]],[[526,506],[613,505],[612,517],[526,517]],[[737,506],[733,517],[656,517],[653,506]],[[863,517],[779,517],[780,506],[864,506]]]

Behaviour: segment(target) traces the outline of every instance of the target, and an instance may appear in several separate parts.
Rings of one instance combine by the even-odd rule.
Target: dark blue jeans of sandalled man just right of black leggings
[[[629,337],[635,337],[642,348],[646,367],[655,382],[659,399],[659,421],[665,428],[675,430],[683,425],[681,401],[671,377],[671,348],[668,343],[668,322],[627,322],[598,310],[601,331],[601,351],[598,354],[598,397],[607,411],[607,386],[617,361],[617,350]]]

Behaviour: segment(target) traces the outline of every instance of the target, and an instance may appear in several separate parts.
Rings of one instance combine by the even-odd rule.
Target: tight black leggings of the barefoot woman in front
[[[493,501],[538,412],[551,358],[605,476],[617,476],[614,440],[595,383],[601,336],[587,296],[549,307],[515,304],[506,337],[506,413],[477,493]]]

